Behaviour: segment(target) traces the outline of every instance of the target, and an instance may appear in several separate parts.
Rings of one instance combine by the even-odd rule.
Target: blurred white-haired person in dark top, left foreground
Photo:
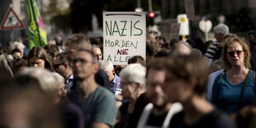
[[[59,73],[50,73],[46,69],[28,68],[17,73],[16,81],[23,88],[31,85],[38,88],[45,97],[51,99],[61,112],[59,116],[64,119],[64,127],[84,127],[83,111],[72,102],[64,99],[67,92],[64,88],[64,78]],[[38,85],[38,87],[35,87]]]

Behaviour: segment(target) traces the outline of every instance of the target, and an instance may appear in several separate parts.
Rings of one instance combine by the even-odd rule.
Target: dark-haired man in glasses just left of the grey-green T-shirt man
[[[70,92],[73,86],[73,69],[72,64],[66,57],[66,54],[61,53],[56,55],[54,61],[55,72],[59,73],[65,78],[67,91]]]

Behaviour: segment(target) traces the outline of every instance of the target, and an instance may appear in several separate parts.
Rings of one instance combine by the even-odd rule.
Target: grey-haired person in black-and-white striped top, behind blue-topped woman
[[[216,59],[220,59],[221,48],[220,44],[224,40],[224,36],[229,34],[229,27],[224,24],[219,24],[213,28],[214,37],[216,42],[214,42],[206,51],[206,58],[209,59],[209,62],[212,63]]]

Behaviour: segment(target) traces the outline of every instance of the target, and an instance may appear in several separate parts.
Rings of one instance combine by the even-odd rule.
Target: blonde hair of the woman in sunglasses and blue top
[[[222,50],[222,55],[221,55],[221,60],[224,64],[225,70],[228,70],[231,68],[230,61],[227,59],[227,50],[230,47],[230,45],[232,45],[235,42],[238,42],[239,45],[241,45],[243,47],[243,50],[246,53],[246,56],[244,56],[244,66],[246,68],[249,68],[249,65],[250,65],[249,61],[251,58],[251,54],[249,52],[249,46],[245,43],[244,40],[242,40],[239,37],[230,37],[229,40],[225,41],[225,45],[224,45],[224,48]]]

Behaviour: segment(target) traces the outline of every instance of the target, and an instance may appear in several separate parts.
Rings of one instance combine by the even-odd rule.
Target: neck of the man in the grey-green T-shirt
[[[90,78],[86,78],[83,81],[81,81],[79,84],[79,100],[83,100],[88,98],[92,92],[94,92],[98,85],[95,82],[94,76],[91,76]]]

